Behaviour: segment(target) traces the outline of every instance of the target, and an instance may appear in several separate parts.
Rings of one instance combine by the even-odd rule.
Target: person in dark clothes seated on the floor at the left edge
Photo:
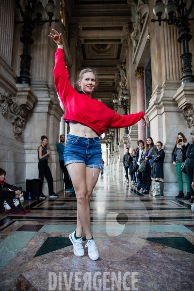
[[[19,195],[21,194],[21,191],[19,190],[19,188],[6,183],[5,175],[5,170],[0,168],[0,210],[3,209],[4,201],[6,201],[7,204],[11,207],[11,212],[13,214],[25,214],[27,212],[30,212],[30,210],[26,210],[25,208],[23,208],[20,203]],[[15,206],[13,198],[18,199],[18,206]]]

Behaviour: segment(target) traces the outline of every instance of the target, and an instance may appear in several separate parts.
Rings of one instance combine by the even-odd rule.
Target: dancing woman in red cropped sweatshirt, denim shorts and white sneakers
[[[90,259],[99,258],[97,246],[90,227],[90,199],[100,172],[102,151],[99,136],[106,128],[115,129],[131,126],[141,118],[148,124],[145,113],[119,115],[104,103],[93,99],[92,92],[97,84],[96,70],[84,69],[78,75],[77,92],[70,84],[65,67],[62,34],[53,29],[49,37],[58,45],[55,53],[54,80],[59,97],[65,107],[65,122],[70,125],[65,144],[64,161],[71,177],[77,197],[77,228],[69,235],[74,254],[84,255],[82,231],[86,234],[86,247]]]

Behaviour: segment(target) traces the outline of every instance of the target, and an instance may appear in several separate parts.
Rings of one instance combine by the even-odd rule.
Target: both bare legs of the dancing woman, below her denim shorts
[[[90,199],[94,186],[97,183],[99,176],[99,169],[86,168],[85,163],[74,163],[67,165],[67,170],[71,177],[76,197],[77,197],[77,213],[78,223],[76,229],[76,235],[81,237],[82,230],[84,228],[86,238],[91,239],[91,228],[90,228]]]

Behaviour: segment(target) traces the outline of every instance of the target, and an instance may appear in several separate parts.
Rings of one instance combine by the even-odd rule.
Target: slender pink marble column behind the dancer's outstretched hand
[[[144,68],[136,68],[135,77],[137,81],[137,112],[145,112],[145,88]],[[146,141],[146,128],[143,128],[144,120],[138,122],[138,139]]]

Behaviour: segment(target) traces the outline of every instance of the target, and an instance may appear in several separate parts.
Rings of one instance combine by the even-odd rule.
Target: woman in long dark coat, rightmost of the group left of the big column
[[[160,192],[156,194],[155,197],[163,196],[163,178],[164,178],[163,162],[165,158],[165,153],[164,153],[164,150],[162,149],[162,146],[163,146],[162,142],[157,142],[156,143],[157,151],[152,157],[150,157],[150,159],[152,158],[152,162],[153,162],[151,178],[152,180],[160,184]]]

